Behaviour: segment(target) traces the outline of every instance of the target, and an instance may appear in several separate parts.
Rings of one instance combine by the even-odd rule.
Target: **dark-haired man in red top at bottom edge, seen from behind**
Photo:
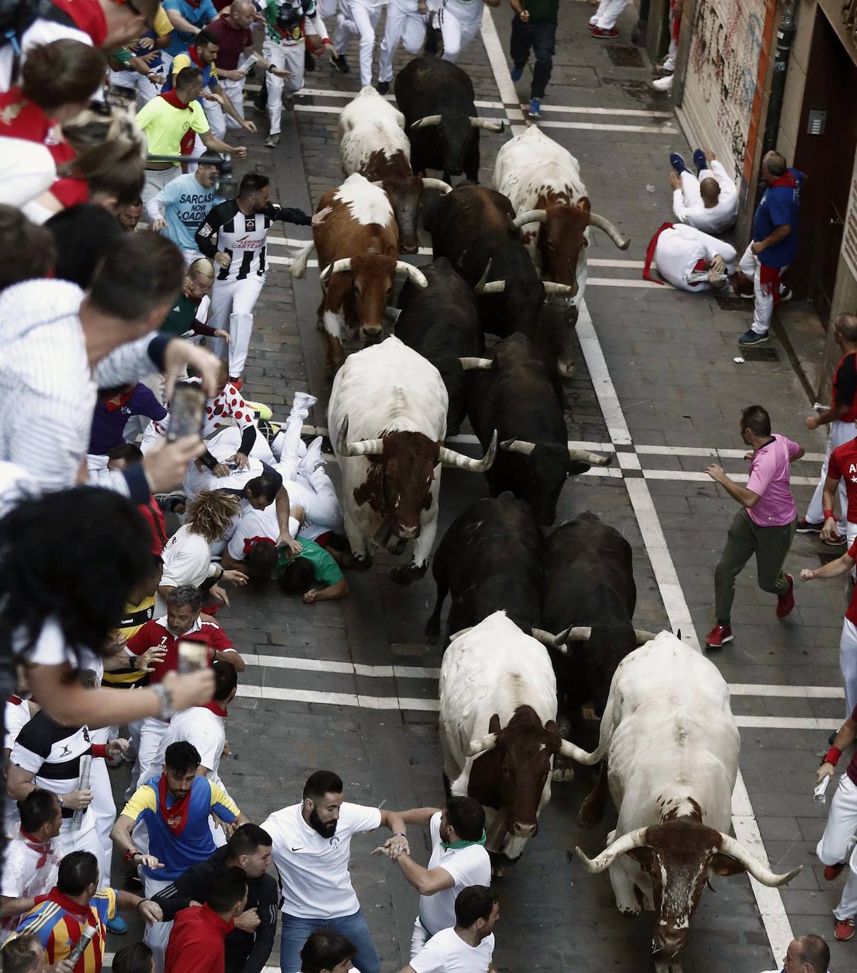
[[[223,973],[224,940],[247,903],[247,874],[225,868],[211,881],[204,906],[190,906],[175,918],[166,946],[164,973]]]

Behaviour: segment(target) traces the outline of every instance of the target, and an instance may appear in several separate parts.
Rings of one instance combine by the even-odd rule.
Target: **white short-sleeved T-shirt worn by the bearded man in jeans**
[[[351,837],[380,827],[381,812],[343,801],[333,838],[322,838],[301,813],[303,804],[274,811],[262,828],[273,840],[273,861],[280,876],[287,916],[341,919],[360,909],[348,862]]]

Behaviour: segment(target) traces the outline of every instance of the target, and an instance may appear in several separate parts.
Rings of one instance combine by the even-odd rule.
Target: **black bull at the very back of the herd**
[[[411,139],[413,171],[439,169],[447,183],[463,172],[479,182],[480,129],[503,131],[503,123],[479,118],[466,72],[437,57],[415,57],[396,75],[394,90]]]

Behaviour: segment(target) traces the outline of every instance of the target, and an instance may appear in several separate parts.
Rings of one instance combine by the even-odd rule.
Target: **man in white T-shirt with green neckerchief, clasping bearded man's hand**
[[[455,925],[455,900],[469,885],[491,883],[491,859],[485,850],[485,811],[472,797],[450,797],[444,810],[418,808],[402,814],[406,824],[428,824],[432,853],[418,865],[408,852],[395,860],[419,892],[419,915],[413,923],[411,959],[432,936]],[[373,854],[386,854],[386,847]]]

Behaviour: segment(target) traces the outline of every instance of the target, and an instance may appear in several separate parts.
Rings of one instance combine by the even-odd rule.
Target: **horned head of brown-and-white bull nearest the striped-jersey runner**
[[[407,274],[417,287],[428,287],[420,270],[402,260],[377,253],[336,260],[319,276],[322,285],[330,281],[328,292],[335,306],[341,306],[350,296],[360,337],[364,342],[372,343],[379,341],[383,334],[384,308],[397,273]]]

